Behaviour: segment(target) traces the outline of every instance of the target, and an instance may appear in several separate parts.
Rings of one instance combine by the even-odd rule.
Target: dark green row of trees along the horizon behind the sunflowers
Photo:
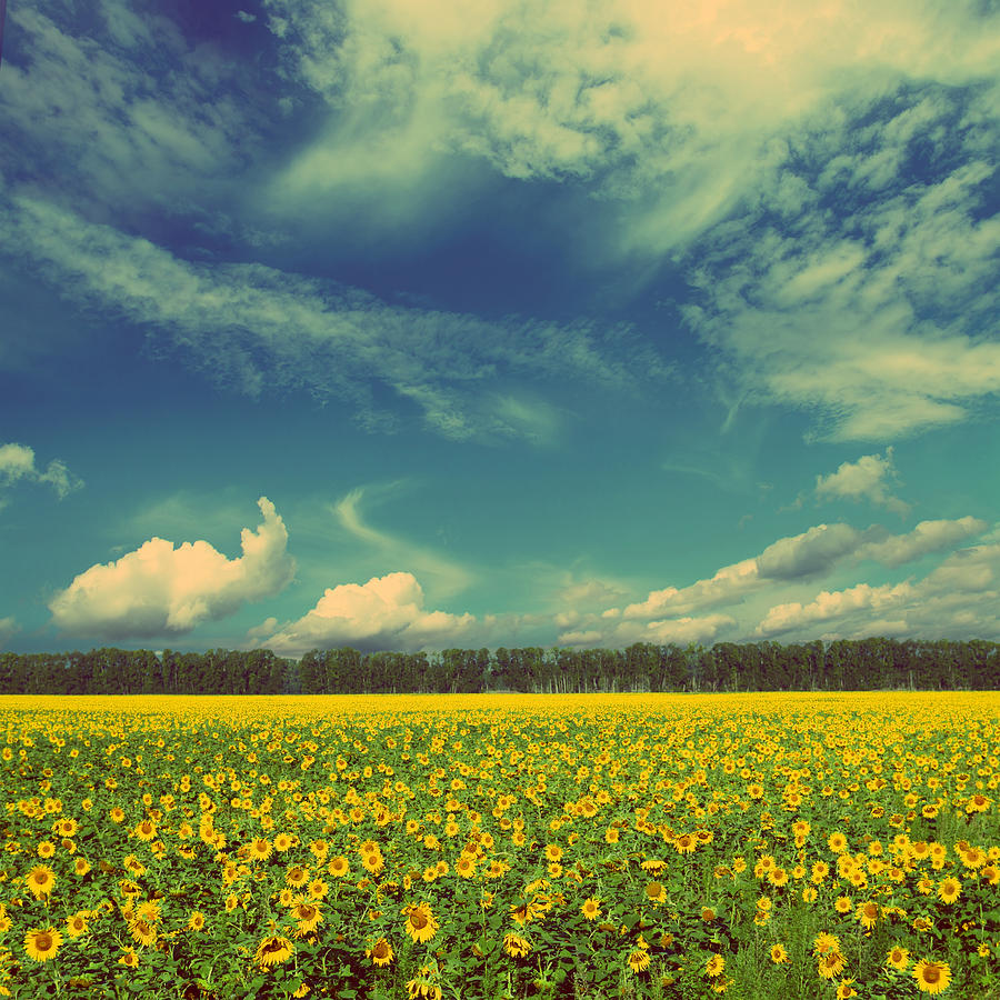
[[[4,694],[594,693],[1000,688],[1000,643],[837,639],[636,642],[627,649],[528,647],[440,652],[92,649],[0,653]]]

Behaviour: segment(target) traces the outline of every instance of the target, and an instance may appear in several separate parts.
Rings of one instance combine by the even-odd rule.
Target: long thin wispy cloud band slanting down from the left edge
[[[498,403],[486,387],[511,376],[641,392],[664,376],[648,350],[621,352],[620,329],[489,322],[390,306],[262,264],[196,263],[24,196],[6,212],[0,202],[0,247],[27,256],[64,298],[160,331],[239,391],[304,387],[353,406],[370,428],[399,420],[376,402],[388,388],[403,416],[414,408],[447,438],[531,439],[551,426],[551,409],[512,397]]]

